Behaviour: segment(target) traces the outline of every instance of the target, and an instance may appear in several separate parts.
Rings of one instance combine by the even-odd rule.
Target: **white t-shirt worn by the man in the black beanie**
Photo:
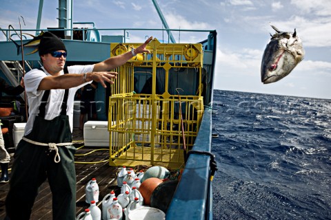
[[[92,72],[93,67],[94,65],[74,65],[68,67],[68,72],[70,74],[84,74],[84,73]],[[29,117],[28,117],[28,122],[26,123],[24,135],[28,135],[32,131],[34,118],[39,113],[39,105],[41,104],[41,99],[43,98],[43,94],[45,93],[45,90],[37,90],[39,87],[39,83],[44,77],[51,76],[50,74],[48,74],[46,69],[43,68],[43,70],[44,71],[39,69],[32,69],[24,76],[24,85],[26,86],[26,96],[28,97],[28,105],[29,105]],[[63,74],[64,72],[62,70],[61,75]],[[88,83],[92,83],[92,81]],[[73,127],[72,120],[74,114],[74,95],[76,94],[77,89],[83,87],[88,83],[83,83],[78,87],[72,87],[69,89],[68,102],[67,102],[68,105],[67,115],[69,116],[71,132]],[[50,90],[50,96],[46,104],[46,112],[45,112],[46,120],[52,120],[60,115],[64,91],[65,89]]]

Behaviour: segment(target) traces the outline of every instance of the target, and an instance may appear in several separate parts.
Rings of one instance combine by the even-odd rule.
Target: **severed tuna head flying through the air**
[[[264,84],[274,83],[288,76],[292,69],[303,60],[305,51],[302,41],[294,33],[281,32],[273,25],[276,31],[265,47],[261,63],[261,81]]]

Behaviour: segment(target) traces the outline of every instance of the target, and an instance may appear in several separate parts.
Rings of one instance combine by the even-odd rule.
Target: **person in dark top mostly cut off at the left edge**
[[[24,82],[23,78],[21,79],[21,83],[17,87],[12,87],[6,80],[0,78],[0,100],[2,98],[2,93],[6,93],[10,96],[18,96],[24,91]],[[7,183],[9,181],[8,177],[8,164],[10,162],[10,155],[6,151],[5,142],[3,141],[3,135],[1,131],[1,119],[0,119],[0,166],[1,166],[1,178],[0,183]]]

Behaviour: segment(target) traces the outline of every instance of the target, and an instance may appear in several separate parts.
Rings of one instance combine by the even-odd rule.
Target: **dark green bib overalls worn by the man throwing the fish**
[[[47,95],[48,94],[48,95]],[[47,97],[46,97],[47,96]],[[61,115],[45,120],[45,107],[49,90],[45,91],[39,115],[36,116],[31,133],[26,138],[41,143],[72,142],[68,115],[66,115],[68,89],[63,98]],[[48,179],[52,190],[53,219],[75,219],[76,171],[72,145],[58,146],[60,162],[54,162],[55,152],[48,146],[31,144],[21,140],[17,145],[12,166],[10,190],[6,198],[6,219],[30,219],[34,199],[39,186]],[[46,201],[47,202],[47,201]]]

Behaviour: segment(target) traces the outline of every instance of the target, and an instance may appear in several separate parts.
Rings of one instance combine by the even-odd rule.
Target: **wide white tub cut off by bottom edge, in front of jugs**
[[[165,213],[157,208],[144,206],[132,210],[126,218],[128,220],[162,220],[165,219]]]

